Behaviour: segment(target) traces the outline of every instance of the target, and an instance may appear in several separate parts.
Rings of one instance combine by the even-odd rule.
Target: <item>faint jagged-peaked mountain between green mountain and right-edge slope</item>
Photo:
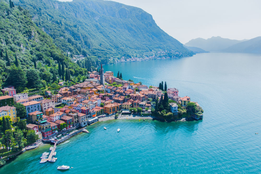
[[[242,41],[245,40],[232,40],[232,39],[226,39],[217,36],[208,39],[203,39],[203,38],[192,39],[184,45],[198,47],[206,51],[223,51],[227,47],[240,43]]]

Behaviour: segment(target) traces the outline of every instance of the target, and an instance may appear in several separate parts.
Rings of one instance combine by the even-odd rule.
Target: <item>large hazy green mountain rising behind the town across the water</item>
[[[167,50],[173,57],[193,52],[160,29],[140,8],[112,1],[15,0],[63,51],[102,58],[140,56]]]

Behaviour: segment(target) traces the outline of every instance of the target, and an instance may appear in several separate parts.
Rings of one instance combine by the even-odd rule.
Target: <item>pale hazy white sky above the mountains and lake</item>
[[[183,44],[198,37],[242,40],[261,36],[260,0],[113,1],[145,10],[161,29]]]

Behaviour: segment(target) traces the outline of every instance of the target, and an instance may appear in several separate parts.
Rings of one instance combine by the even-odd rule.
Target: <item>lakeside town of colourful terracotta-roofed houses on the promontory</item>
[[[0,97],[2,127],[4,120],[13,125],[26,123],[26,129],[37,135],[35,142],[57,141],[62,133],[110,119],[142,117],[175,121],[203,118],[203,109],[197,102],[188,96],[180,97],[179,90],[167,88],[166,82],[164,87],[163,82],[159,87],[148,87],[142,82],[122,80],[119,72],[117,77],[112,71],[104,73],[102,65],[99,72],[89,72],[89,79],[84,82],[66,86],[60,81],[58,85],[57,91],[45,91],[44,96],[16,93],[11,84],[1,89],[5,94]],[[17,112],[24,113],[25,117],[20,119]],[[3,149],[4,146],[8,151],[11,149],[8,143],[1,143]]]

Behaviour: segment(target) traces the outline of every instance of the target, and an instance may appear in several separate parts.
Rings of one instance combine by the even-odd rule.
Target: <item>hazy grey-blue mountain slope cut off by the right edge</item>
[[[238,44],[232,45],[225,52],[261,53],[261,37],[256,37]]]

